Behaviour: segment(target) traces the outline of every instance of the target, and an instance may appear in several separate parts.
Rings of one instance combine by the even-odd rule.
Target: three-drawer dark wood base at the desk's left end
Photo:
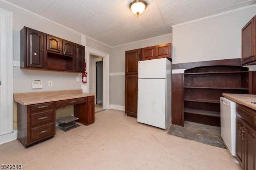
[[[55,135],[54,102],[18,104],[18,140],[24,147]]]

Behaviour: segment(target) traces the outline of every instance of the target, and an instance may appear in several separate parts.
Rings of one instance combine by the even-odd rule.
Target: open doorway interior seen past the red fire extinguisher
[[[95,94],[94,111],[103,111],[103,58],[90,55],[90,93]]]

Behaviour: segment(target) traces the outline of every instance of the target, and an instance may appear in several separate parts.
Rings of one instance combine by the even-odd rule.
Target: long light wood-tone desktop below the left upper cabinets
[[[45,102],[55,102],[59,100],[68,100],[74,98],[83,98],[94,96],[92,93],[83,93],[79,90],[59,90],[48,92],[30,92],[30,93],[15,93],[14,101],[22,105],[39,104]]]

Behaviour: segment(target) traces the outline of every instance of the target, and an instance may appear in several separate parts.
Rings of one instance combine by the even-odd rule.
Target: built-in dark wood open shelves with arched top
[[[222,93],[248,94],[248,68],[203,66],[185,70],[184,120],[220,126]]]

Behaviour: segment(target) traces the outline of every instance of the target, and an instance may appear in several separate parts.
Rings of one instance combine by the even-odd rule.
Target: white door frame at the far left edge
[[[12,12],[0,8],[0,144],[15,138],[15,135],[9,135],[14,132],[12,20]]]

